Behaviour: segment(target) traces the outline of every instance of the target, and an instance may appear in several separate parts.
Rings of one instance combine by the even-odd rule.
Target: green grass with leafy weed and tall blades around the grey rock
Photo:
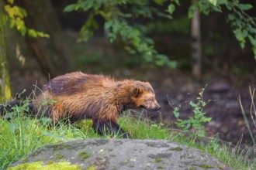
[[[225,145],[217,137],[206,138],[203,124],[211,121],[211,118],[206,117],[204,107],[206,107],[210,100],[203,100],[203,91],[204,89],[195,98],[195,101],[189,103],[194,114],[192,117],[184,120],[181,119],[178,112],[179,108],[174,107],[173,114],[177,118],[175,124],[179,128],[178,130],[166,127],[163,124],[156,124],[145,118],[135,119],[131,114],[128,114],[129,112],[119,117],[119,124],[133,138],[175,141],[192,148],[199,148],[219,158],[221,162],[229,165],[231,168],[256,169],[256,151],[254,151],[255,136],[252,134],[252,130],[248,124],[241,100],[239,100],[241,112],[244,115],[244,120],[247,123],[251,138],[254,141],[249,148],[241,148],[240,144],[236,146]],[[251,117],[256,115],[254,91],[250,88]],[[92,129],[91,120],[83,120],[75,124],[59,122],[56,126],[52,126],[50,118],[42,117],[35,119],[26,116],[24,113],[27,112],[27,107],[28,104],[24,104],[21,107],[13,107],[11,113],[0,117],[0,169],[6,169],[9,165],[18,161],[23,156],[28,155],[31,151],[46,145],[75,139],[112,138],[95,134]],[[256,128],[255,122],[254,125]],[[119,137],[116,136],[114,138]]]

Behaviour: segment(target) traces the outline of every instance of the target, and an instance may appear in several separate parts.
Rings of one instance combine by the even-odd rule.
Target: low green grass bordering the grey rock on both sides
[[[101,138],[92,130],[91,121],[82,121],[80,124],[58,124],[50,127],[49,121],[29,118],[17,114],[11,121],[0,118],[0,169],[5,169],[31,151],[57,142],[74,139]],[[154,124],[147,120],[137,120],[131,116],[119,118],[119,124],[128,131],[133,138],[171,140],[193,148],[199,148],[216,156],[220,161],[235,169],[256,169],[256,160],[249,158],[250,153],[240,148],[231,148],[220,145],[216,138],[207,143],[195,143],[184,135],[171,131],[161,124]],[[78,128],[80,127],[80,128]],[[106,136],[104,138],[110,138]]]

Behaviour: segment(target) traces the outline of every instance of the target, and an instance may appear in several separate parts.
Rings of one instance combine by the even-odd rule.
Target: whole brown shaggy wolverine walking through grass
[[[81,72],[50,80],[29,105],[30,110],[50,117],[54,124],[67,117],[71,122],[88,118],[97,133],[120,134],[123,138],[131,136],[119,127],[117,118],[124,110],[134,108],[161,109],[150,83]]]

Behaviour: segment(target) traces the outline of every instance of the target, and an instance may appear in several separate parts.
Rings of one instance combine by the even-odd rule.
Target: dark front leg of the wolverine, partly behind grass
[[[123,138],[131,138],[130,134],[120,128],[119,124],[114,121],[93,120],[92,128],[99,134],[119,134]]]

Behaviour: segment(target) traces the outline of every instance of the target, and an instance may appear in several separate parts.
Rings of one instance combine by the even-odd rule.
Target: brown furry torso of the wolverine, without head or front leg
[[[116,81],[108,76],[67,73],[43,86],[36,105],[40,107],[43,101],[54,101],[48,104],[46,113],[54,119],[67,116],[98,118],[102,107],[108,105],[106,98],[112,98],[115,84]]]

